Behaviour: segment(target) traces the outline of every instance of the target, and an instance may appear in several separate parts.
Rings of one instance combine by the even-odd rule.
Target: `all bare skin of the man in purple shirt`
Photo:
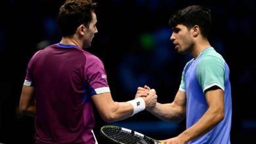
[[[71,37],[62,37],[60,43],[64,45],[77,45],[79,48],[87,48],[91,46],[91,41],[95,33],[98,33],[96,28],[96,14],[93,12],[93,20],[89,26],[81,24],[77,27],[74,35]],[[32,86],[23,86],[20,96],[20,111],[25,115],[34,116],[36,113],[35,96],[33,95],[34,88]],[[135,98],[142,97],[146,103],[146,107],[156,105],[157,95],[154,90],[136,94]],[[131,117],[133,114],[133,106],[129,102],[116,102],[112,99],[110,92],[96,94],[91,99],[95,103],[98,113],[106,122],[114,122]]]

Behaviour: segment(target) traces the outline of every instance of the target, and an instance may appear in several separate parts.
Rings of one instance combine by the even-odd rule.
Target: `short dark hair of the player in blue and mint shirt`
[[[200,5],[192,5],[178,10],[169,19],[169,26],[175,27],[178,24],[189,29],[198,25],[203,37],[208,37],[211,27],[211,10]]]

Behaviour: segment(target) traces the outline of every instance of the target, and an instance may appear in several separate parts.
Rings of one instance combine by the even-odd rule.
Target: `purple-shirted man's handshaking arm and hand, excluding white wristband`
[[[137,94],[144,99],[146,107],[152,107],[156,104],[156,93],[148,94]],[[116,102],[112,99],[110,92],[97,94],[92,96],[93,102],[95,103],[96,109],[106,122],[114,122],[117,120],[123,120],[131,117],[133,114],[133,105],[129,102]]]

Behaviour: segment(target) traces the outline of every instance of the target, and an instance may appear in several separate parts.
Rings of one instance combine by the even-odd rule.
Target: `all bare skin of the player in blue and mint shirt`
[[[178,24],[176,27],[173,27],[170,39],[173,41],[173,45],[175,45],[175,50],[181,54],[189,52],[194,59],[198,57],[200,52],[210,46],[207,39],[202,37],[200,27],[197,25],[188,29],[188,27]],[[148,92],[148,90],[150,90],[148,86],[140,87],[137,93]],[[205,98],[209,108],[200,120],[177,137],[164,139],[161,142],[166,144],[184,144],[209,132],[211,128],[221,122],[224,118],[223,90],[220,88],[209,90],[205,93]],[[172,103],[156,103],[154,107],[149,107],[147,110],[161,120],[180,122],[186,117],[186,94],[178,90]]]

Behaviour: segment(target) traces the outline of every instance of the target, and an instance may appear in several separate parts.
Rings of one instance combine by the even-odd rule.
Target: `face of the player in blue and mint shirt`
[[[181,54],[192,51],[194,45],[192,38],[190,30],[182,24],[173,27],[173,33],[170,37],[175,46],[175,50]]]

